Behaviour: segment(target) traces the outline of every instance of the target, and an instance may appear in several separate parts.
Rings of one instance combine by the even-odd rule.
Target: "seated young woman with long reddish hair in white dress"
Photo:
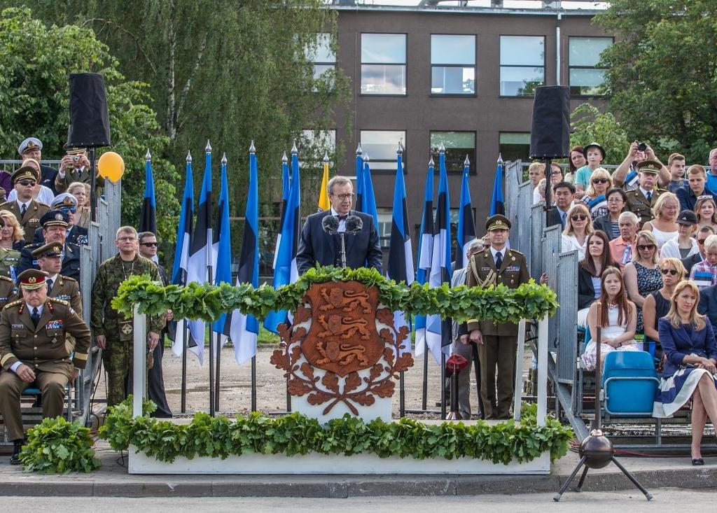
[[[612,351],[637,351],[635,345],[635,303],[627,299],[622,274],[615,267],[608,267],[602,272],[600,279],[600,301],[590,306],[587,322],[591,335],[597,335],[598,324],[602,327],[600,342],[600,365],[604,364],[605,355]],[[597,305],[600,316],[597,315]],[[597,340],[588,342],[585,352],[580,356],[583,368],[594,370],[597,367]]]

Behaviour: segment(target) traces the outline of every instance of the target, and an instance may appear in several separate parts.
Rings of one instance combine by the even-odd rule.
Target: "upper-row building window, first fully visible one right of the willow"
[[[406,34],[361,34],[361,94],[406,94]]]

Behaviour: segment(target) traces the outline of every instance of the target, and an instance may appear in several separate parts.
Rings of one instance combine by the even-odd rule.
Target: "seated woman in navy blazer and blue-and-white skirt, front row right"
[[[692,399],[692,464],[703,465],[702,435],[707,417],[717,425],[717,344],[708,317],[697,313],[700,292],[680,282],[670,312],[657,322],[665,353],[660,389],[652,416],[668,417]]]

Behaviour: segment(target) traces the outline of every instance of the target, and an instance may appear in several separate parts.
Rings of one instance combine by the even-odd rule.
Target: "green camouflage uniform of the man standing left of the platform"
[[[100,264],[95,283],[92,284],[92,335],[105,335],[107,339],[102,360],[108,376],[108,406],[125,400],[128,378],[131,377],[134,337],[132,317],[125,317],[113,309],[111,302],[120,284],[132,274],[147,274],[151,279],[161,281],[154,262],[137,254],[132,262],[123,262],[119,255],[105,260]],[[147,318],[149,331],[159,333],[164,324],[163,315]],[[148,353],[148,368],[152,366],[151,355]]]

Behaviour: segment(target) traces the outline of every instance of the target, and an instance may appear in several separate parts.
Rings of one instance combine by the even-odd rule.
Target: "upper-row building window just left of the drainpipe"
[[[545,37],[500,36],[500,96],[532,96],[545,82]]]

